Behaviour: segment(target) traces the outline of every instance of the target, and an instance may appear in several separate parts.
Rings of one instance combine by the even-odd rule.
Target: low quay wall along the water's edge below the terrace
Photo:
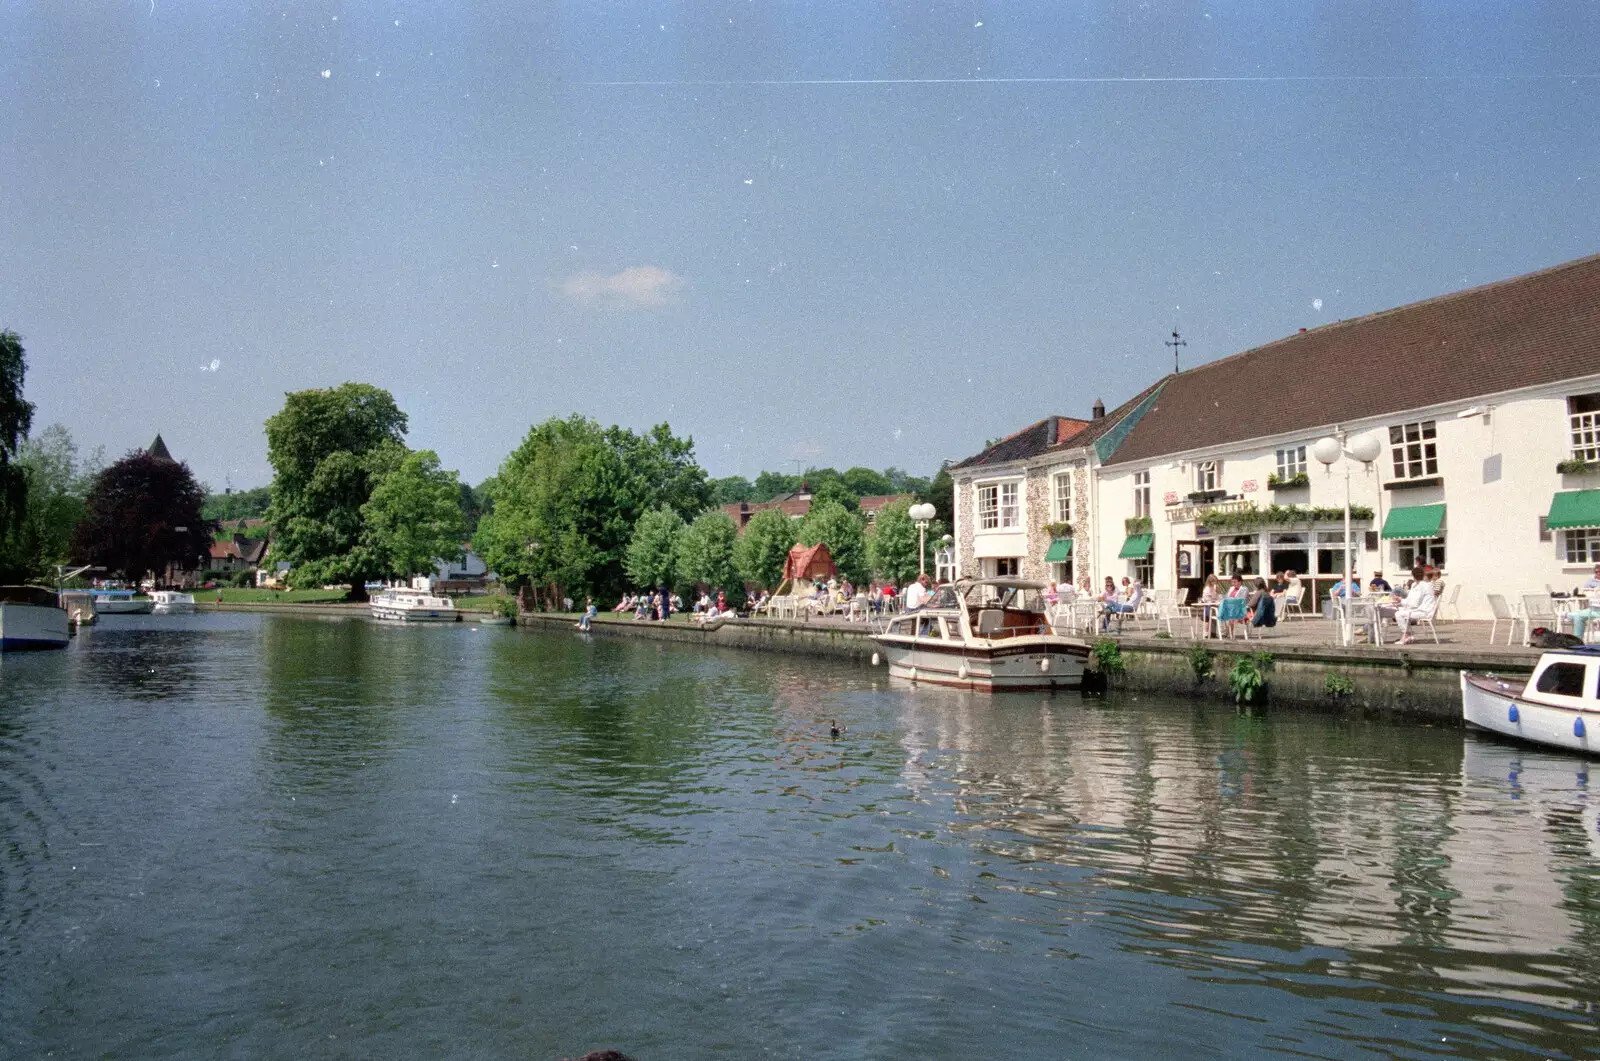
[[[526,627],[571,631],[578,616],[522,615]],[[645,637],[650,640],[698,645],[702,648],[742,648],[795,656],[826,656],[851,663],[872,663],[877,643],[866,631],[842,629],[781,619],[736,619],[686,626],[680,623],[640,623],[635,619],[595,618],[595,634]],[[1197,679],[1190,661],[1192,645],[1206,645],[1211,675]],[[1227,674],[1240,658],[1254,656],[1259,643],[1232,648],[1222,643],[1123,639],[1118,642],[1126,672],[1115,688],[1130,693],[1163,693],[1194,699],[1234,703]],[[1461,679],[1464,669],[1493,671],[1507,675],[1533,672],[1533,658],[1520,653],[1462,653],[1432,647],[1414,651],[1371,648],[1309,648],[1304,645],[1272,645],[1272,669],[1266,675],[1269,703],[1315,707],[1363,717],[1389,717],[1426,723],[1461,725]],[[1328,677],[1338,675],[1347,691],[1331,693]]]

